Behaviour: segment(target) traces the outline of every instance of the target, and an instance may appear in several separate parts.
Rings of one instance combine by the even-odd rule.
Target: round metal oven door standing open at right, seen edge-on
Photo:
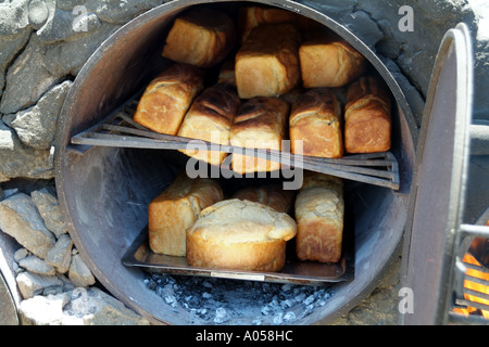
[[[400,292],[403,324],[443,324],[464,210],[473,104],[468,28],[450,29],[438,51],[417,143]]]

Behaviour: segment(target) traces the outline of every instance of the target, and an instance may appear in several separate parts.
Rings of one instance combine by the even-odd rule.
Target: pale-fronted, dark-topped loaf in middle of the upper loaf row
[[[300,41],[290,24],[254,27],[236,53],[239,97],[278,97],[294,88],[300,82]]]

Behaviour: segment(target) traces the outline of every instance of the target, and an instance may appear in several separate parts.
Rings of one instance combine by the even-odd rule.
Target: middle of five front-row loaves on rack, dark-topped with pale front
[[[281,150],[286,136],[289,104],[278,98],[256,97],[244,102],[233,124],[229,141],[234,146],[246,149]],[[233,170],[243,175],[256,171],[274,171],[279,162],[254,155],[233,153]]]

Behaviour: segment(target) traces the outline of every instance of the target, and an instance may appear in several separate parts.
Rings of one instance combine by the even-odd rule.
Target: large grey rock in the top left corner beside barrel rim
[[[30,107],[64,77],[75,76],[102,41],[120,27],[100,23],[95,15],[87,15],[87,29],[76,31],[73,29],[74,13],[57,9],[52,1],[45,1],[45,5],[49,12],[46,23],[30,36],[25,49],[8,68],[0,113],[12,114]],[[34,8],[33,12],[41,16],[43,10],[39,1]],[[42,20],[35,21],[39,25]],[[9,17],[5,21],[10,23],[12,20]],[[28,22],[28,12],[25,21]],[[14,29],[9,27],[3,31],[14,33]],[[4,55],[4,59],[0,57],[0,76],[4,75],[1,67],[13,57],[12,53]],[[2,63],[3,60],[5,63]]]

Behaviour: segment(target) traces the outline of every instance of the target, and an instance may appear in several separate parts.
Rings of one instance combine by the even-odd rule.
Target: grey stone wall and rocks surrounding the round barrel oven
[[[162,2],[0,0],[0,236],[16,244],[9,267],[22,295],[24,323],[147,323],[100,291],[77,254],[58,206],[53,139],[64,98],[84,63],[123,24]],[[487,0],[299,2],[344,24],[379,54],[418,125],[441,37],[456,23],[467,23],[477,57],[474,114],[489,119]],[[414,10],[412,31],[399,29],[402,5]],[[35,307],[53,313],[39,316]],[[100,316],[88,319],[88,311]]]

